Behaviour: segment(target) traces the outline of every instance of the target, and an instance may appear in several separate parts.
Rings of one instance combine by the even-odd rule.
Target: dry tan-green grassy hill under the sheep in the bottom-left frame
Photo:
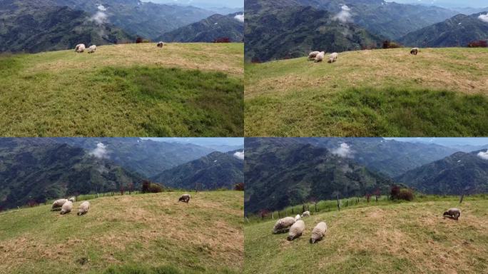
[[[97,198],[81,217],[0,213],[0,273],[240,273],[243,193],[180,195]]]

